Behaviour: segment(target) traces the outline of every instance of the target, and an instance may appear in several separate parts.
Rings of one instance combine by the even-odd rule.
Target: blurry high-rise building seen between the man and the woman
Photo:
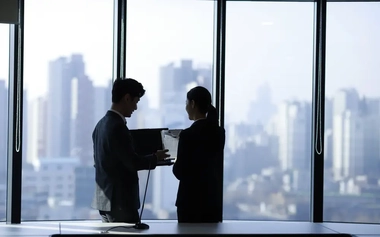
[[[170,129],[186,128],[191,122],[185,111],[186,93],[194,86],[204,86],[212,92],[211,67],[194,67],[192,60],[169,63],[160,68],[160,102],[159,110],[162,127]],[[175,197],[178,180],[167,167],[153,173],[153,208],[160,216],[162,210],[175,211]]]

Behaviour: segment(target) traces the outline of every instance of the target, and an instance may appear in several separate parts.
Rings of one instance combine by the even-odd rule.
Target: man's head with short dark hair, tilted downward
[[[125,117],[131,117],[144,94],[145,90],[140,82],[132,78],[118,78],[112,86],[112,104],[117,105]]]

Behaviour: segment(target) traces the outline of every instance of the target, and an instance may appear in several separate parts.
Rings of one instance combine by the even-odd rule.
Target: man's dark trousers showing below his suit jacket
[[[139,212],[137,209],[113,209],[111,211],[99,211],[103,223],[108,222],[123,222],[123,223],[138,223]]]

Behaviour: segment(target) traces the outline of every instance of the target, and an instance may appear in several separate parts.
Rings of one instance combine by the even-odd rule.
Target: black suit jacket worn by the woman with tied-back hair
[[[225,130],[207,119],[179,137],[173,173],[179,180],[178,208],[216,208],[222,204]]]

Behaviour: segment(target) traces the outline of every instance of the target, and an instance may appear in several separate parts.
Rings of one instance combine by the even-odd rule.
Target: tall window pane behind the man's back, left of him
[[[23,220],[100,219],[91,134],[112,60],[113,0],[25,1]]]

